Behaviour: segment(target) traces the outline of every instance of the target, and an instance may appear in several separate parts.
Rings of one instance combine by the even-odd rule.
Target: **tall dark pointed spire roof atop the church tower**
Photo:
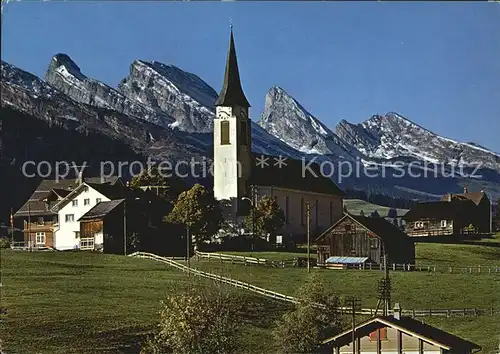
[[[224,84],[215,101],[216,106],[234,106],[248,108],[248,103],[243,89],[241,88],[240,72],[238,70],[238,61],[236,59],[236,49],[234,48],[233,26],[231,25],[231,37],[229,39],[229,52],[226,59],[226,72],[224,74]]]

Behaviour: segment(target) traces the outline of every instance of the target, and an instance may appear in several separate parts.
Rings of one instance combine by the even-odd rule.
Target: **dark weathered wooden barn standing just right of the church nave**
[[[345,214],[316,240],[318,264],[412,264],[415,245],[384,218]]]

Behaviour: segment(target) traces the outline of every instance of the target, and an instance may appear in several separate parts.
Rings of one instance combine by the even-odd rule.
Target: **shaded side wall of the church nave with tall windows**
[[[260,199],[266,195],[276,198],[280,208],[285,212],[286,223],[282,230],[283,235],[306,235],[307,201],[310,203],[311,242],[319,233],[325,231],[343,216],[341,196],[280,187],[258,186],[257,198]],[[288,216],[286,215],[287,211]]]

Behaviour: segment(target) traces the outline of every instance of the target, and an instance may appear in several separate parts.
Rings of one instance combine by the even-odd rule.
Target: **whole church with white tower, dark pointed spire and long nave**
[[[214,119],[214,196],[230,201],[239,217],[248,215],[260,198],[275,198],[285,214],[280,234],[300,241],[306,235],[306,209],[309,206],[310,234],[313,240],[343,216],[344,192],[318,165],[291,158],[252,152],[250,103],[241,85],[233,30],[226,60],[224,83],[215,102]],[[249,205],[250,204],[250,205]]]

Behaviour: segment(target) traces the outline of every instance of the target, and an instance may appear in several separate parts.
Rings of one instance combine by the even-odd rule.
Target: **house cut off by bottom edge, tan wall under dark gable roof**
[[[439,328],[401,315],[396,304],[393,316],[379,316],[323,341],[323,353],[333,354],[473,354],[481,347]]]

